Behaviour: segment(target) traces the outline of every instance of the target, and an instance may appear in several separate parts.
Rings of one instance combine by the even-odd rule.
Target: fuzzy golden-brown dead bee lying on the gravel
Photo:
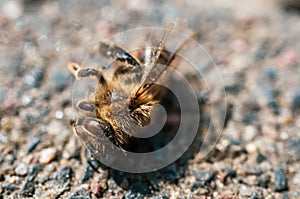
[[[164,28],[155,47],[130,53],[113,43],[100,42],[97,53],[112,61],[107,67],[113,69],[109,74],[107,68],[84,68],[74,62],[68,64],[77,79],[94,78],[97,81],[95,93],[77,103],[83,116],[71,123],[79,140],[92,154],[107,150],[103,136],[115,146],[126,149],[133,137],[133,126],[144,127],[151,122],[152,107],[166,92],[156,82],[167,67],[176,66],[177,53],[186,43],[173,53],[165,49],[173,26],[171,23]]]

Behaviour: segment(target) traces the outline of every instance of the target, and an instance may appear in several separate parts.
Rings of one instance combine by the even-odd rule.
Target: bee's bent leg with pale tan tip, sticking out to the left
[[[86,78],[86,77],[95,77],[99,81],[99,83],[103,85],[106,84],[103,74],[96,69],[81,68],[81,66],[75,62],[69,62],[68,68],[77,79]]]

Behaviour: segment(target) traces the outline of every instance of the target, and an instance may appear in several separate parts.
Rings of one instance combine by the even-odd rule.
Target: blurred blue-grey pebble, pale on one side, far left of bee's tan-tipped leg
[[[31,88],[38,88],[44,78],[45,70],[40,67],[35,67],[23,78],[23,82],[26,86]]]

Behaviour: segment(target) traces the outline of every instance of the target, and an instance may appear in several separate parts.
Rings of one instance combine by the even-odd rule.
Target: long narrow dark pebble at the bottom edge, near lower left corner
[[[24,181],[23,187],[22,187],[22,195],[25,197],[32,197],[35,191],[35,183],[34,180],[37,176],[37,174],[41,170],[41,165],[34,165],[31,167],[31,169],[28,172],[28,175]]]

